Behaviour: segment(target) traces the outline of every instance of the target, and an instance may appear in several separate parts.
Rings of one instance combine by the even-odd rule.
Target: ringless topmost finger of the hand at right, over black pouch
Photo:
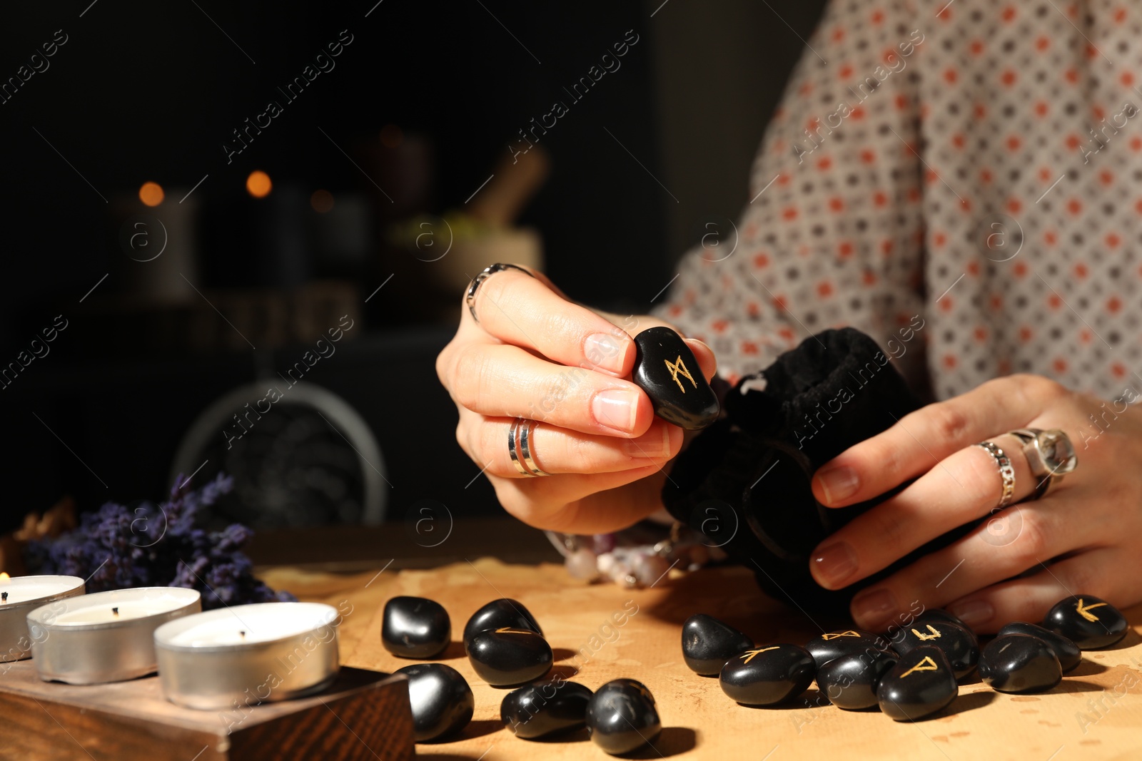
[[[884,494],[957,450],[1027,426],[1067,392],[1039,375],[1008,375],[930,404],[825,463],[813,476],[813,494],[830,507]]]

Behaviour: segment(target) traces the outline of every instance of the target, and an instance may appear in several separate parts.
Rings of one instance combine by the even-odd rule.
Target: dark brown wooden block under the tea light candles
[[[63,685],[21,661],[0,666],[0,717],[14,761],[413,758],[408,680],[347,666],[317,695],[219,712],[168,702],[158,677]]]

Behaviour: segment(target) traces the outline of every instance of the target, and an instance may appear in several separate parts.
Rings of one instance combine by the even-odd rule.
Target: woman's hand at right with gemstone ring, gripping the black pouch
[[[854,504],[916,481],[821,542],[814,578],[847,586],[992,512],[1003,480],[992,456],[972,446],[979,442],[1011,458],[1013,501],[1028,496],[1039,479],[1021,442],[1005,434],[1061,428],[1078,455],[1072,473],[1042,500],[996,511],[948,548],[862,590],[852,615],[883,631],[918,600],[992,633],[1011,621],[1038,622],[1071,594],[1121,607],[1142,600],[1142,410],[1127,407],[1136,398],[1128,394],[1102,402],[1038,375],[1012,375],[918,410],[849,448],[813,476],[822,504]]]

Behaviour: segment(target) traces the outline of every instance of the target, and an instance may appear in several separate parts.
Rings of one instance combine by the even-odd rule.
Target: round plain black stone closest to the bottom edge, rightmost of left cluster
[[[653,743],[661,732],[654,696],[634,679],[606,682],[587,704],[587,734],[612,755]]]

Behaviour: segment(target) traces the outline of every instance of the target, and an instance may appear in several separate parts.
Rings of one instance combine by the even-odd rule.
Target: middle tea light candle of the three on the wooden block
[[[27,614],[32,658],[43,681],[98,685],[155,670],[154,630],[202,609],[201,596],[178,586],[96,592]]]

